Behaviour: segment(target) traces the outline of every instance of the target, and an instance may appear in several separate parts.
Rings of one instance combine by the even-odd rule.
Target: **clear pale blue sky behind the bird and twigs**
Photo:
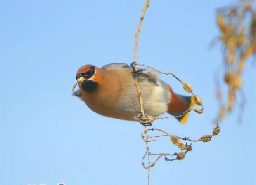
[[[144,1],[0,2],[1,185],[146,185],[143,127],[102,117],[71,96],[84,64],[133,61]],[[213,71],[221,65],[215,8],[228,1],[152,1],[142,23],[137,60],[175,73],[204,102],[204,114],[154,122],[171,134],[211,134],[218,104]],[[177,93],[173,78],[161,75]],[[209,143],[194,143],[183,161],[162,159],[151,185],[255,184],[255,67],[247,65],[243,124],[237,108]],[[168,139],[152,152],[179,152]]]

